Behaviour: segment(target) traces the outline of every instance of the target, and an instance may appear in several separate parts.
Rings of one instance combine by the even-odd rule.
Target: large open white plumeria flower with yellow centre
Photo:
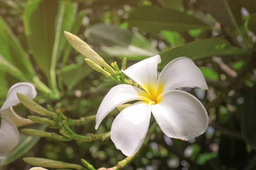
[[[111,140],[126,156],[133,156],[143,144],[151,112],[170,138],[189,140],[207,130],[208,115],[202,103],[187,92],[175,90],[208,90],[200,69],[191,59],[180,57],[169,62],[157,79],[160,62],[160,55],[156,55],[122,70],[145,91],[132,85],[117,85],[105,96],[97,112],[96,129],[117,106],[132,100],[143,101],[121,111],[111,127]]]

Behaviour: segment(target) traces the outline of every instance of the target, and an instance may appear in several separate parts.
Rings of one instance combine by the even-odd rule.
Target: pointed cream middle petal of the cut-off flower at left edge
[[[20,117],[14,110],[13,108],[7,108],[1,111],[1,116],[8,119],[12,123],[15,124],[16,127],[21,127],[24,125],[30,125],[33,124],[34,122],[31,121],[30,119],[25,119],[23,117]]]

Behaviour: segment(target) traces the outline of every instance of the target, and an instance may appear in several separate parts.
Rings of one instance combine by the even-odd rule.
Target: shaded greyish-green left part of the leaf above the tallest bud
[[[131,42],[132,32],[121,29],[118,26],[97,24],[84,32],[87,37],[107,46],[120,45],[127,46]]]

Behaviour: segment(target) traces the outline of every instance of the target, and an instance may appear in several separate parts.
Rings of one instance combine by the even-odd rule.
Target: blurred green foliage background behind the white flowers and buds
[[[130,66],[160,54],[161,71],[186,56],[207,80],[207,92],[182,89],[206,106],[207,132],[181,141],[157,127],[125,170],[256,170],[256,0],[0,0],[0,105],[10,86],[27,81],[36,86],[35,101],[43,107],[61,109],[71,119],[96,114],[116,83],[90,68],[64,31],[109,64],[121,67],[126,57]],[[15,111],[35,115],[23,105]],[[94,121],[72,129],[81,135],[108,132],[119,111],[112,113],[98,130]],[[28,170],[32,166],[23,157],[75,164],[83,158],[96,168],[125,159],[110,139],[61,142],[20,132],[19,146],[0,170]]]

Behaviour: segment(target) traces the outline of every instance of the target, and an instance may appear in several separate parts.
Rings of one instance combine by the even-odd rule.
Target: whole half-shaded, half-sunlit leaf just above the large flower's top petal
[[[94,41],[104,44],[100,49],[111,57],[143,59],[158,53],[157,49],[143,35],[133,34],[131,31],[117,26],[98,24],[91,27],[86,35]]]

